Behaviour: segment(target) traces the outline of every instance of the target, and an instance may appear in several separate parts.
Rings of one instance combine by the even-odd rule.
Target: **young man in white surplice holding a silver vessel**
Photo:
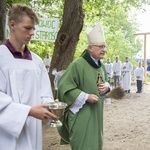
[[[36,23],[23,4],[8,12],[10,38],[0,46],[0,150],[42,150],[41,120],[57,120],[47,110],[54,99],[44,63],[27,48]]]

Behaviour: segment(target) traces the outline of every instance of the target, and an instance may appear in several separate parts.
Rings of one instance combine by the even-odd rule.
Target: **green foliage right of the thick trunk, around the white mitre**
[[[143,1],[144,3],[144,1]],[[124,61],[128,55],[132,63],[135,63],[135,54],[141,50],[142,44],[135,43],[134,33],[138,30],[135,18],[129,18],[131,8],[141,8],[140,1],[86,1],[84,9],[86,12],[85,27],[94,25],[96,21],[102,21],[105,31],[107,51],[106,57],[113,60],[119,55]],[[77,45],[75,58],[84,50],[87,45],[85,28],[80,34],[80,41]],[[86,48],[86,47],[85,47]],[[104,61],[105,61],[104,59]]]

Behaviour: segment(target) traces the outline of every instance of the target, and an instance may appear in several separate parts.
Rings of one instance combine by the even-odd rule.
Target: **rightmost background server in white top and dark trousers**
[[[142,67],[142,62],[139,62],[139,66],[134,70],[134,76],[136,78],[136,93],[142,93],[142,86],[144,80],[144,67]]]

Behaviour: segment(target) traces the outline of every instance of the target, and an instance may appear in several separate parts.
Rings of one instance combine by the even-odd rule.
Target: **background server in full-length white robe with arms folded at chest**
[[[131,89],[131,71],[133,70],[133,65],[129,61],[128,57],[125,57],[125,62],[122,64],[122,88],[126,93],[130,93]]]

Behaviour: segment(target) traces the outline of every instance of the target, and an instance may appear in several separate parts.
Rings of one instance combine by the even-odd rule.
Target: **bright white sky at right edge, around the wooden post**
[[[146,10],[145,12],[137,11],[137,21],[140,24],[138,33],[150,33],[150,5],[144,6],[144,9]],[[144,42],[144,36],[141,35],[140,38]],[[146,56],[150,58],[150,34],[146,36],[146,45]],[[144,52],[144,46],[142,51]]]

